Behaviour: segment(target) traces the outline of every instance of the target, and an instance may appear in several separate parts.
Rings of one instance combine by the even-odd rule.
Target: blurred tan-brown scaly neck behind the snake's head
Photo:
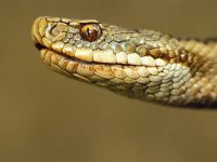
[[[217,104],[217,41],[182,40],[180,43],[195,53],[197,60],[190,66],[191,78],[186,83],[186,102],[193,106]]]

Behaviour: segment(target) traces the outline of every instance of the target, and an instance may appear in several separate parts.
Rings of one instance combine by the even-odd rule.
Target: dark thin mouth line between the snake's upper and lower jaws
[[[128,65],[128,64],[111,64],[111,63],[99,63],[99,62],[86,62],[86,60],[82,60],[82,59],[79,59],[79,58],[76,58],[76,57],[73,57],[73,56],[69,56],[69,55],[66,55],[64,53],[59,53],[52,49],[48,49],[46,48],[44,45],[40,44],[40,43],[36,43],[35,46],[41,51],[41,50],[44,50],[47,49],[48,51],[52,51],[54,52],[55,54],[59,54],[60,56],[66,58],[66,59],[69,59],[69,60],[73,60],[73,62],[77,62],[77,63],[80,63],[80,64],[86,64],[86,65],[107,65],[107,66],[127,66],[127,67],[138,67],[139,65]]]

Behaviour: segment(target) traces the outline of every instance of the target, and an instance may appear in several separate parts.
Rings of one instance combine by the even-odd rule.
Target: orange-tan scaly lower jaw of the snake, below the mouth
[[[59,54],[48,49],[40,50],[42,62],[51,69],[71,78],[76,78],[91,83],[103,83],[103,85],[120,85],[135,83],[146,83],[146,78],[137,77],[138,68],[141,66],[110,65],[98,63],[86,63]],[[126,71],[131,71],[126,72]],[[136,76],[133,73],[137,73]],[[139,80],[138,80],[139,79]]]

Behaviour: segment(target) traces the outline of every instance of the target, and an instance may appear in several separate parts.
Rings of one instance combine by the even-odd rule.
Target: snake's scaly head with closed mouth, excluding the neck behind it
[[[184,95],[181,86],[191,77],[191,53],[158,31],[129,30],[95,19],[39,17],[31,33],[52,69],[130,97],[174,103]]]

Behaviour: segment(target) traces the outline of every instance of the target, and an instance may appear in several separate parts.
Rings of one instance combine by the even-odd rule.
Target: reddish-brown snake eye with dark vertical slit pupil
[[[101,29],[97,24],[87,24],[81,27],[80,36],[82,39],[92,42],[97,40],[101,35]]]

